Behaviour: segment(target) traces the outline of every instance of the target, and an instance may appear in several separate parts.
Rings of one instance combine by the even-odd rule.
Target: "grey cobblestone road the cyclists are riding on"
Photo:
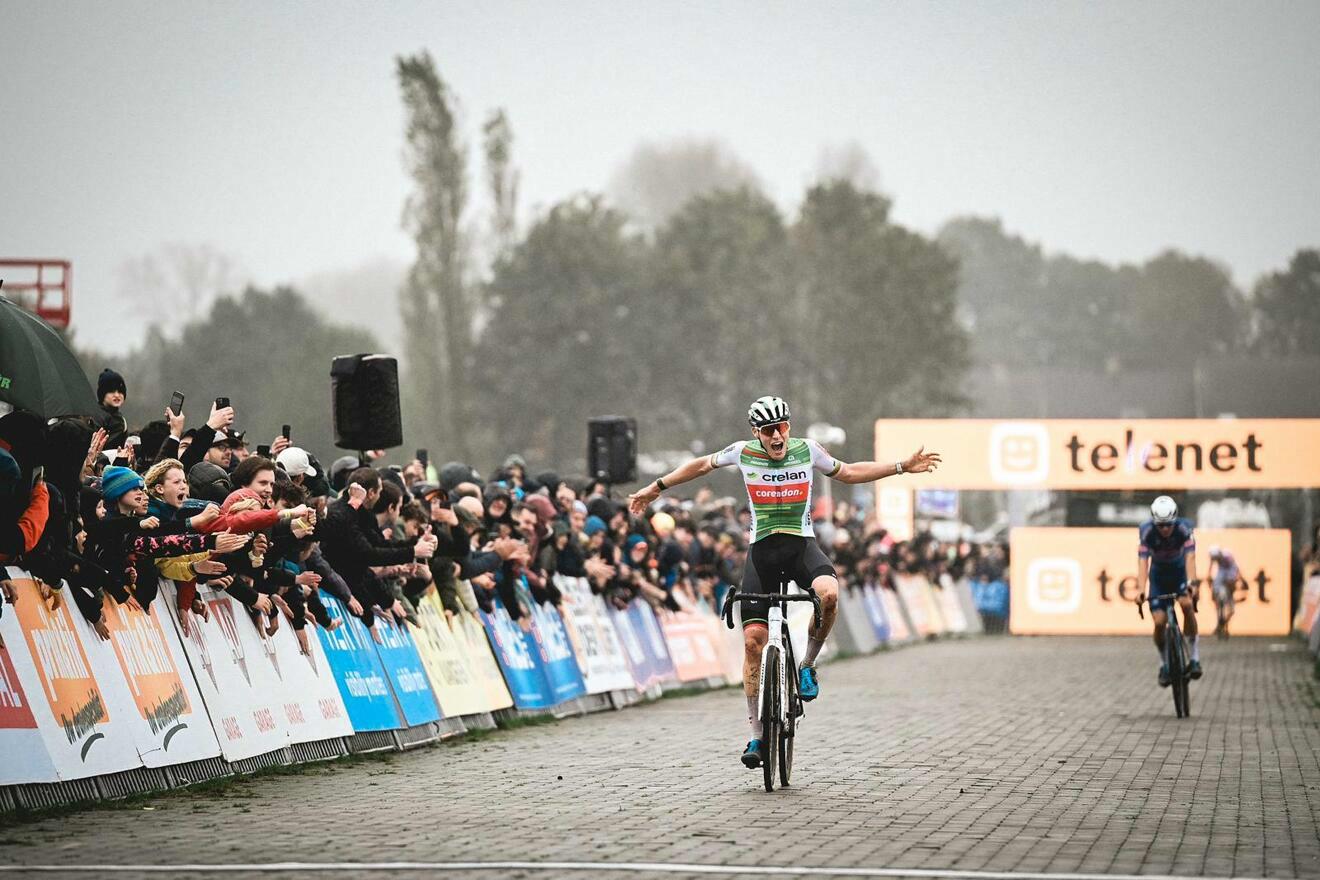
[[[1155,685],[1148,640],[978,639],[833,664],[795,784],[775,794],[737,761],[744,705],[725,690],[13,826],[0,864],[1320,877],[1320,689],[1305,653],[1247,639],[1203,653],[1187,720]]]

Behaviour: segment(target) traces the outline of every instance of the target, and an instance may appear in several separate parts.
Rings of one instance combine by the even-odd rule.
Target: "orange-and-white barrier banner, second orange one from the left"
[[[143,612],[106,596],[102,613],[110,641],[102,641],[82,615],[74,620],[92,668],[106,670],[100,678],[111,712],[133,728],[143,764],[166,767],[218,756],[211,719],[165,600]],[[120,679],[115,681],[112,669],[121,673]]]

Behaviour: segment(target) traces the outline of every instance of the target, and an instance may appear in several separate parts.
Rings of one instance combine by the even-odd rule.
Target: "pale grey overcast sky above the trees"
[[[1166,247],[1238,284],[1320,247],[1320,3],[0,0],[0,256],[74,261],[79,339],[141,336],[117,267],[165,241],[259,284],[407,261],[400,53],[475,142],[504,107],[521,220],[643,140],[715,137],[785,211],[863,146],[924,232]]]

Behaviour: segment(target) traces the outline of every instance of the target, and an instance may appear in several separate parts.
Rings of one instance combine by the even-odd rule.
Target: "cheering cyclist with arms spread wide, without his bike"
[[[816,699],[816,657],[820,654],[838,603],[834,566],[816,544],[812,529],[813,471],[841,483],[871,483],[895,474],[923,474],[940,464],[936,453],[919,449],[904,462],[840,462],[820,443],[789,437],[788,404],[779,397],[758,397],[747,410],[752,439],[731,443],[713,455],[694,458],[628,496],[635,516],[645,512],[667,488],[705,476],[717,467],[737,464],[747,486],[751,505],[751,533],[741,592],[777,592],[789,581],[810,584],[821,599],[821,625],[808,632],[807,653],[799,672],[803,699]],[[760,767],[762,726],[756,710],[756,683],[760,679],[760,652],[766,646],[768,604],[743,603],[743,693],[751,722],[751,741],[742,753],[748,768]]]

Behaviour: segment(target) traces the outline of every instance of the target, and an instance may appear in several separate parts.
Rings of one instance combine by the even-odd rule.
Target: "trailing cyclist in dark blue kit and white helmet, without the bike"
[[[1138,555],[1138,591],[1151,598],[1151,619],[1155,621],[1155,648],[1164,657],[1164,627],[1168,607],[1177,602],[1183,610],[1183,633],[1192,645],[1192,662],[1187,673],[1201,677],[1201,646],[1196,633],[1196,613],[1188,587],[1196,579],[1196,534],[1192,521],[1177,516],[1177,503],[1160,495],[1151,503],[1151,519],[1140,525]],[[1147,588],[1148,584],[1148,588]],[[1168,687],[1168,666],[1160,662],[1159,685]]]

